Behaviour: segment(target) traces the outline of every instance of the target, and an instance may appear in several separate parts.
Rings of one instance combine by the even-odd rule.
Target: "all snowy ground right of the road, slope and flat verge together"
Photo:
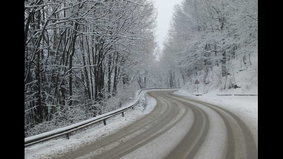
[[[232,60],[231,67],[228,68],[227,80],[226,76],[220,74],[221,67],[214,66],[213,71],[209,71],[206,77],[204,73],[191,77],[193,79],[174,94],[211,103],[231,111],[249,127],[257,145],[258,96],[234,96],[234,94],[258,94],[258,57],[251,55],[251,59],[247,58],[246,62],[244,65],[243,61]],[[196,79],[200,84],[194,84]],[[231,87],[234,85],[237,87]],[[202,96],[195,96],[196,94]],[[232,96],[217,96],[217,94],[232,94]]]

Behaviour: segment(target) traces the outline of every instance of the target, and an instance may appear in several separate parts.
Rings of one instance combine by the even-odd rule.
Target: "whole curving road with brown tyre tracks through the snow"
[[[258,143],[235,114],[212,104],[149,91],[154,110],[57,159],[257,159]]]

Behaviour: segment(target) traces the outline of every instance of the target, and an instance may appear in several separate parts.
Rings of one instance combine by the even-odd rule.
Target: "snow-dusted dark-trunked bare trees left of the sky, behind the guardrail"
[[[156,15],[148,0],[25,1],[25,132],[118,106],[117,92],[156,45]]]

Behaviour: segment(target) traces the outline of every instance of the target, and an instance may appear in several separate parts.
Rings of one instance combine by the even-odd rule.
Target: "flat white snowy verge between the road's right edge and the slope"
[[[211,93],[195,96],[180,90],[173,94],[210,103],[234,113],[250,129],[258,146],[258,96],[217,96]]]

